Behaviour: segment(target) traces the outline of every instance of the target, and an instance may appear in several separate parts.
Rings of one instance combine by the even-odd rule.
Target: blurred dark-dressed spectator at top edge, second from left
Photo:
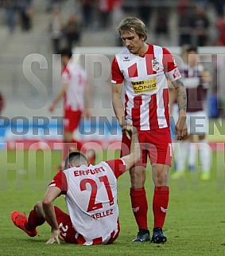
[[[32,0],[19,0],[21,15],[21,30],[29,31],[32,28]]]

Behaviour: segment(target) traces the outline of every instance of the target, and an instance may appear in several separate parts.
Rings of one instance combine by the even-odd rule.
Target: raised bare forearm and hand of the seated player
[[[122,160],[126,164],[126,170],[137,163],[141,159],[141,148],[138,140],[138,130],[134,126],[132,127],[130,155],[123,156]]]

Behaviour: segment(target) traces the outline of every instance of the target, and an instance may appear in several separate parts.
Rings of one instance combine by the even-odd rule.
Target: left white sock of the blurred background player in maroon
[[[188,156],[189,142],[182,141],[173,143],[174,160],[177,171],[184,172],[186,167],[186,160]]]

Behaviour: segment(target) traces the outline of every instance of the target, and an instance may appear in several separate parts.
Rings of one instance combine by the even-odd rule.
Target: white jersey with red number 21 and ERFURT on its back
[[[65,195],[76,236],[83,236],[84,245],[105,244],[118,233],[117,179],[124,171],[122,160],[109,160],[59,171],[49,184]]]

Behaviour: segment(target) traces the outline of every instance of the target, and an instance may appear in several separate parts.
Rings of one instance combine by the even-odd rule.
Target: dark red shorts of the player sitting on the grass
[[[75,238],[77,232],[72,226],[72,221],[70,219],[70,216],[66,214],[64,211],[60,210],[59,207],[55,207],[55,212],[56,212],[56,220],[59,225],[61,235],[64,238],[65,242],[69,243],[77,243],[77,244],[83,244],[85,242],[83,236],[81,234],[78,235],[77,238]],[[119,223],[118,223],[118,232],[116,235],[114,235],[114,232],[111,233],[111,238],[107,242],[107,244],[110,244],[114,242],[116,238],[118,238],[118,234],[120,231]],[[93,241],[93,244],[98,244],[99,242]]]

